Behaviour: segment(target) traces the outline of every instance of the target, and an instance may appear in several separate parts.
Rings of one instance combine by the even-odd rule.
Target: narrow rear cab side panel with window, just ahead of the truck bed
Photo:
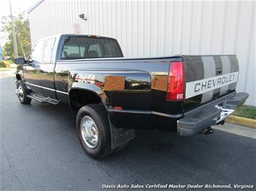
[[[46,39],[45,48],[43,50],[43,62],[40,66],[40,81],[42,85],[42,91],[45,97],[57,99],[56,87],[54,83],[54,67],[55,61],[53,57],[53,47],[55,45],[56,38]]]

